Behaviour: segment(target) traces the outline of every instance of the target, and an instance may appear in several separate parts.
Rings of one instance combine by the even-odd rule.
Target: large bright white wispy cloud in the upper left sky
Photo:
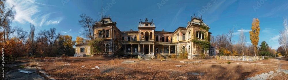
[[[59,24],[63,19],[63,17],[51,18],[50,15],[53,13],[45,13],[39,7],[41,5],[41,9],[45,9],[42,7],[53,5],[38,3],[35,0],[7,0],[6,4],[9,7],[15,5],[14,10],[17,14],[14,21],[21,24],[31,23],[35,26],[52,25]]]

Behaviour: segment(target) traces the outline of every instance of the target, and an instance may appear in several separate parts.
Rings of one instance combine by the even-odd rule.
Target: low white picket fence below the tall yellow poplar
[[[217,60],[233,60],[233,61],[259,61],[265,56],[216,56]]]

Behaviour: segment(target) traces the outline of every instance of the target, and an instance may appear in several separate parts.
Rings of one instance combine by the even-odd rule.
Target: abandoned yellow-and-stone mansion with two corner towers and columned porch
[[[103,16],[99,22],[94,25],[95,37],[103,37],[113,44],[113,38],[116,36],[122,36],[122,40],[125,40],[121,50],[125,55],[132,56],[148,56],[154,57],[156,54],[162,56],[170,56],[173,54],[179,55],[179,53],[188,53],[188,58],[197,56],[201,50],[202,52],[215,55],[217,54],[216,48],[211,46],[209,50],[198,49],[193,40],[197,41],[210,41],[209,32],[210,27],[206,25],[202,16],[191,16],[191,21],[187,23],[186,27],[179,27],[174,32],[155,31],[153,19],[141,20],[138,25],[138,31],[120,31],[116,26],[116,22],[113,22],[110,15]],[[107,34],[102,34],[102,33]],[[97,35],[96,35],[97,34]],[[113,55],[115,51],[111,44],[105,46],[102,54]],[[90,46],[88,42],[75,45],[76,54],[90,55]]]

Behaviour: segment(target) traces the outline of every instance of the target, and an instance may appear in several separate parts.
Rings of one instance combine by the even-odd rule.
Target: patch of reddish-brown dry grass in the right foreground
[[[207,65],[206,67],[189,72],[204,73],[204,75],[198,76],[201,80],[240,80],[245,79],[255,71],[255,67],[248,65]]]

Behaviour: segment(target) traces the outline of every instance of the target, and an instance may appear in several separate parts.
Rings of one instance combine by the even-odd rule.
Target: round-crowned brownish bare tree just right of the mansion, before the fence
[[[216,36],[216,40],[217,40],[218,48],[227,48],[229,42],[225,34],[222,34],[222,35],[218,34]]]

